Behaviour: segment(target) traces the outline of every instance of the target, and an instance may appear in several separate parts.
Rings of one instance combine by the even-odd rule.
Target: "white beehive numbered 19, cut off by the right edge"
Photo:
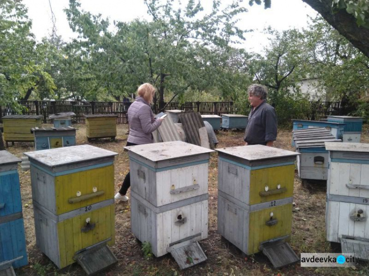
[[[325,143],[330,167],[326,229],[329,242],[343,253],[369,259],[369,144]]]

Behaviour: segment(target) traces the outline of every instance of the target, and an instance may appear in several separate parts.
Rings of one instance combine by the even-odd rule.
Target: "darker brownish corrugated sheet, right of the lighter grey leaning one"
[[[182,122],[184,133],[189,143],[201,146],[199,128],[205,127],[199,112],[181,113],[178,115]]]

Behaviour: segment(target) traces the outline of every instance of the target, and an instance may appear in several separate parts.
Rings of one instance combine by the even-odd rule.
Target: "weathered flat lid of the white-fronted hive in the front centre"
[[[214,152],[214,150],[182,141],[128,146],[124,148],[153,162]]]

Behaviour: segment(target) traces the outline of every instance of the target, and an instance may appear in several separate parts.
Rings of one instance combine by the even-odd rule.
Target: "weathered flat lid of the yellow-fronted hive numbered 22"
[[[248,161],[276,159],[280,157],[293,157],[299,155],[299,153],[294,151],[284,150],[275,147],[268,147],[263,145],[238,146],[229,148],[219,148],[215,150]]]

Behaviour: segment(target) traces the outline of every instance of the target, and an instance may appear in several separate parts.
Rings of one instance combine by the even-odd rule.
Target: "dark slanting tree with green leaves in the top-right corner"
[[[367,0],[303,0],[348,41],[369,57],[369,1]],[[251,4],[261,0],[250,0]],[[271,0],[264,0],[269,8]]]

